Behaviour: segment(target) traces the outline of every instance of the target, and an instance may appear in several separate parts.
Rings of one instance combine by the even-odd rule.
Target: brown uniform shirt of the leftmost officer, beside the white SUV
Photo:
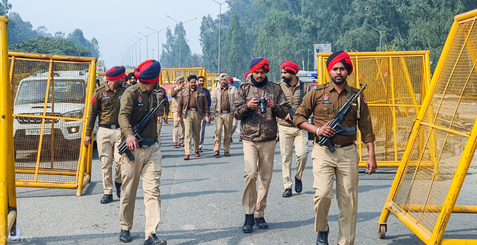
[[[119,86],[114,92],[106,83],[94,90],[93,97],[91,98],[88,122],[86,124],[86,136],[92,136],[94,122],[98,116],[98,124],[119,124],[120,100],[125,90],[125,87]]]

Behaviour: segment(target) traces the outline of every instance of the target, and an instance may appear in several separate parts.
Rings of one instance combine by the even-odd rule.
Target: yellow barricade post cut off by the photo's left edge
[[[9,235],[20,236],[16,229],[17,194],[13,162],[13,132],[11,92],[8,63],[7,16],[0,16],[0,245],[8,243]]]

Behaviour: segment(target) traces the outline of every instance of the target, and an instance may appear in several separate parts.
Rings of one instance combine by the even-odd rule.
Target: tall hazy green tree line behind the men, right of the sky
[[[477,9],[476,0],[228,0],[221,15],[220,71],[218,17],[202,18],[202,55],[191,54],[185,30],[182,63],[200,63],[207,72],[240,77],[250,59],[265,57],[271,79],[280,79],[280,64],[290,60],[302,70],[313,69],[313,43],[332,43],[332,50],[430,50],[437,63],[456,14]],[[214,6],[211,4],[211,6]],[[178,29],[179,27],[179,29]],[[175,33],[166,33],[161,63],[178,65]],[[380,44],[381,39],[381,44]],[[185,48],[186,46],[186,48]],[[311,50],[308,55],[308,49]],[[303,67],[304,66],[304,67]]]

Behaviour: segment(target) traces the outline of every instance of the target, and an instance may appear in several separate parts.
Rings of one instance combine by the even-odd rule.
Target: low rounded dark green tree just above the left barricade
[[[75,45],[74,41],[52,37],[27,38],[20,43],[10,44],[9,51],[25,53],[46,53],[71,56],[91,56],[91,52],[84,46]]]

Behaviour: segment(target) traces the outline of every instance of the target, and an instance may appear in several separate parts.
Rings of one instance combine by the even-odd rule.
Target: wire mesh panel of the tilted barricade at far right
[[[442,208],[477,117],[477,27],[471,28],[473,22],[458,25],[444,54],[442,70],[410,142],[411,152],[392,199],[429,232],[439,217],[429,206],[436,205],[438,211]]]

